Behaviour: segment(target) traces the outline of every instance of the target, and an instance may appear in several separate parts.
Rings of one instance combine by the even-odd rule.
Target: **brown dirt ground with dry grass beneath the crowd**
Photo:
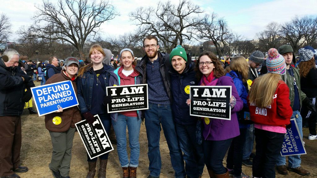
[[[36,86],[39,82],[35,82]],[[34,103],[34,102],[33,102]],[[33,107],[36,110],[36,107]],[[22,115],[22,149],[21,149],[21,164],[27,166],[29,171],[26,173],[20,173],[22,178],[52,178],[52,174],[49,170],[49,162],[51,159],[52,144],[49,136],[49,131],[46,130],[44,124],[44,116],[38,117],[38,115],[29,114],[27,109],[24,109]],[[317,177],[317,140],[308,140],[308,128],[303,128],[305,148],[307,155],[302,155],[303,168],[308,169],[311,174],[310,177]],[[139,167],[137,169],[137,175],[139,178],[146,178],[149,175],[147,157],[147,138],[146,128],[144,124],[141,124],[140,130],[140,158]],[[110,152],[108,165],[107,165],[107,178],[120,178],[122,177],[122,169],[120,167],[118,154],[116,151],[116,145],[113,145],[114,150]],[[128,149],[129,151],[129,149]],[[169,150],[166,144],[163,131],[160,136],[160,151],[162,157],[162,170],[161,178],[172,178],[174,170],[171,167],[171,161],[169,156]],[[255,152],[255,150],[253,150]],[[226,165],[226,157],[223,164]],[[99,163],[97,164],[98,167]],[[246,175],[252,175],[252,168],[242,167],[243,173]],[[79,137],[78,132],[75,132],[72,160],[70,168],[70,177],[72,178],[84,178],[88,172],[87,153],[84,145]],[[98,170],[97,170],[98,173]],[[95,176],[97,177],[97,175]],[[204,168],[203,177],[209,177],[206,167]],[[293,172],[288,172],[288,175],[280,175],[276,172],[277,178],[297,178],[302,177]]]

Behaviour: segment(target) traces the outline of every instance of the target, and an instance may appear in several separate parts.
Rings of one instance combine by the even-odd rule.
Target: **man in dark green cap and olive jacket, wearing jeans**
[[[301,77],[297,68],[291,66],[293,62],[296,64],[295,54],[293,48],[290,45],[282,45],[278,48],[278,53],[281,54],[286,63],[286,75],[282,76],[282,80],[286,81],[289,88],[289,99],[291,101],[291,107],[293,109],[293,115],[290,119],[295,118],[298,130],[303,138],[302,130],[302,117],[301,117],[301,106],[305,103],[307,106],[314,105],[311,103],[306,94],[301,91]],[[301,155],[288,156],[288,167],[286,168],[285,156],[279,156],[276,163],[277,172],[282,175],[287,175],[289,171],[295,172],[299,175],[309,175],[310,172],[301,167]]]

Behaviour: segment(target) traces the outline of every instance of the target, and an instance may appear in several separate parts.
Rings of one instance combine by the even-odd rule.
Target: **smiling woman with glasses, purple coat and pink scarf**
[[[239,98],[236,86],[226,73],[215,54],[207,51],[196,61],[196,76],[200,86],[231,86],[231,120],[204,118],[203,148],[204,160],[209,176],[229,178],[228,169],[223,166],[223,158],[234,137],[240,135],[236,112],[242,110],[243,101]],[[187,100],[187,104],[190,100]]]

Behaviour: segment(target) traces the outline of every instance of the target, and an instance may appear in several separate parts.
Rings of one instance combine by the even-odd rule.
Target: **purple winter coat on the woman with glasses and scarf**
[[[208,125],[202,120],[204,123],[204,139],[212,141],[226,140],[240,135],[236,112],[243,108],[243,101],[240,99],[231,77],[222,76],[218,78],[216,86],[231,86],[231,95],[236,98],[236,105],[231,109],[231,120],[210,118]]]

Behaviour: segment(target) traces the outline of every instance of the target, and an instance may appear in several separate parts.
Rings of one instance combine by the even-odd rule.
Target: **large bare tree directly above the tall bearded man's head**
[[[203,13],[198,5],[189,0],[159,2],[156,8],[139,7],[130,13],[130,19],[139,26],[139,36],[156,35],[162,41],[162,49],[170,52],[184,40],[191,40],[191,29],[199,25],[197,14]]]

